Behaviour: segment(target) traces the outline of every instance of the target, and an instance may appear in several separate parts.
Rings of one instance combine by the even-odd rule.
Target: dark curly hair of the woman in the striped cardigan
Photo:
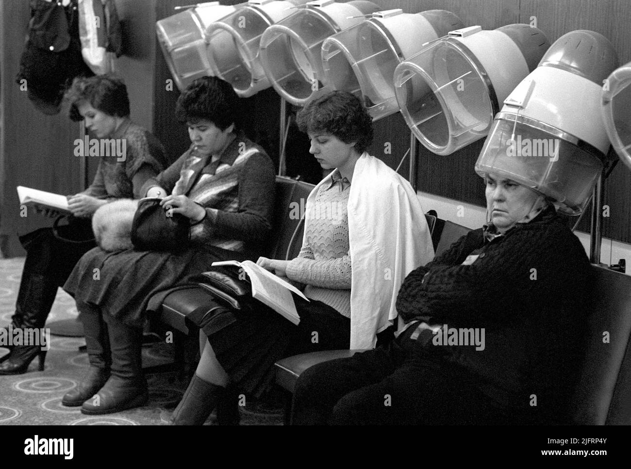
[[[215,76],[203,76],[193,81],[177,98],[175,117],[180,122],[213,122],[220,130],[230,124],[239,127],[239,97],[227,82]]]

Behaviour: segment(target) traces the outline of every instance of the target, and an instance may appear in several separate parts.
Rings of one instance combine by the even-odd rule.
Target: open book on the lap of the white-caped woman
[[[300,316],[298,316],[298,312],[296,311],[296,304],[293,303],[292,292],[307,301],[309,301],[309,299],[292,284],[285,282],[280,277],[256,265],[256,263],[251,260],[244,260],[244,262],[227,260],[224,262],[213,262],[211,265],[235,265],[242,267],[248,277],[250,277],[252,298],[256,298],[261,301],[261,303],[268,305],[294,324],[298,325],[300,322]]]

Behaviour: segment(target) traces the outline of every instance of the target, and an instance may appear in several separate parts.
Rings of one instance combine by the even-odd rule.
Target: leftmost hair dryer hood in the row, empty
[[[194,79],[214,74],[206,52],[206,28],[233,11],[234,6],[206,2],[156,21],[158,43],[180,91]]]

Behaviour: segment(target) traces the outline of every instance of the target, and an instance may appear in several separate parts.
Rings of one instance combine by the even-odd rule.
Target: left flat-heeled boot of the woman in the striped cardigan
[[[90,368],[79,386],[69,391],[61,400],[63,405],[78,407],[100,390],[110,377],[112,355],[107,325],[100,310],[86,304],[77,304],[79,318],[85,331],[85,345],[88,349]]]

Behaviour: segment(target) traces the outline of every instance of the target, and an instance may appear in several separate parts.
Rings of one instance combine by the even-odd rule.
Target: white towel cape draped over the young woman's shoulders
[[[305,223],[315,195],[309,194]],[[397,317],[399,287],[406,275],[433,259],[425,214],[410,183],[380,159],[363,153],[348,196],[351,256],[351,349],[372,349],[377,332]],[[305,233],[307,230],[305,229]]]

